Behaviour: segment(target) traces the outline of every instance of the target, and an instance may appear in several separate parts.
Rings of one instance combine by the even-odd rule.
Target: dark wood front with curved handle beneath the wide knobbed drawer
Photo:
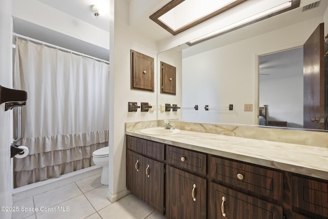
[[[211,219],[281,219],[283,216],[282,206],[265,202],[215,183],[211,183],[210,186],[209,205]]]

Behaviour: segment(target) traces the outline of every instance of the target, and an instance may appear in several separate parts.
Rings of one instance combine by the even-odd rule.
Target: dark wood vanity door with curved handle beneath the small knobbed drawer
[[[167,168],[167,218],[206,218],[206,179]]]

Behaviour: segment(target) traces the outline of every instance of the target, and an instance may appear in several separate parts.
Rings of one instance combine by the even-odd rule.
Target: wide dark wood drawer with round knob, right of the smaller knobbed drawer
[[[211,177],[213,181],[257,197],[278,201],[283,198],[282,172],[212,156]]]

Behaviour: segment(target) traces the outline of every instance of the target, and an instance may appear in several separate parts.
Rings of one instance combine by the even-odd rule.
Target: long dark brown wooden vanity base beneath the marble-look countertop
[[[328,181],[131,135],[127,189],[167,218],[328,218]]]

